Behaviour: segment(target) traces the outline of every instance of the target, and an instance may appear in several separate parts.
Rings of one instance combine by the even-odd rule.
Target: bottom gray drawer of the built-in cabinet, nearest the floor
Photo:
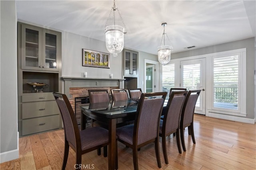
[[[22,135],[60,128],[60,115],[22,120]]]

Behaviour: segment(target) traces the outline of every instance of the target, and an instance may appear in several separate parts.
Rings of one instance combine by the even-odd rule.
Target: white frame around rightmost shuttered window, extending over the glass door
[[[213,107],[213,67],[212,67],[212,58],[215,56],[220,56],[220,55],[230,55],[233,53],[239,53],[240,54],[240,61],[238,62],[239,64],[239,97],[240,100],[238,100],[239,106],[240,106],[240,111],[235,111],[235,110],[227,110],[227,109],[222,109],[216,107]],[[210,117],[216,117],[216,113],[223,115],[222,116],[217,116],[218,118],[224,118],[225,115],[236,115],[236,116],[242,116],[246,117],[246,48],[243,49],[236,49],[236,50],[230,50],[230,51],[223,51],[223,52],[218,52],[218,53],[210,53],[210,54],[205,54],[205,55],[198,55],[198,56],[192,56],[192,57],[184,57],[184,58],[179,58],[179,59],[171,59],[170,63],[168,64],[175,64],[175,68],[180,68],[180,61],[185,61],[185,60],[192,60],[192,59],[201,59],[201,58],[206,58],[206,116]],[[162,73],[162,71],[160,71]],[[180,86],[180,69],[175,70],[175,86],[179,87]],[[162,87],[162,83],[161,83]]]

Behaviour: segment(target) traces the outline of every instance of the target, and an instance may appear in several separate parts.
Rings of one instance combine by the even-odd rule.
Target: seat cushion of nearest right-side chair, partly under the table
[[[127,125],[123,127],[119,127],[116,129],[116,135],[118,139],[130,143],[132,145],[132,138],[133,138],[133,131],[134,131],[134,124]]]

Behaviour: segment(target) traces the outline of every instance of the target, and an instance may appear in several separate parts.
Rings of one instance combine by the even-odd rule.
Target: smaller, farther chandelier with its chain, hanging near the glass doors
[[[157,50],[158,50],[158,61],[159,61],[159,63],[161,63],[163,65],[169,63],[169,61],[171,59],[171,51],[173,50],[172,45],[165,45],[165,35],[168,38],[167,34],[165,33],[165,25],[166,24],[167,24],[166,22],[162,23],[162,26],[164,26],[164,32],[163,32],[163,35],[162,35],[161,44],[157,48]],[[162,45],[163,39],[164,39],[164,45]],[[170,42],[169,38],[168,38],[168,41]]]

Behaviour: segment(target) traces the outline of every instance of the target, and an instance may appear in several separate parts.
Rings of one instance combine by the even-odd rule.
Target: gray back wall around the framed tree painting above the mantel
[[[40,26],[40,25],[38,25]],[[125,47],[124,47],[125,48]],[[87,72],[87,77],[92,78],[123,78],[122,76],[122,53],[117,57],[110,54],[110,69],[82,66],[82,49],[89,49],[109,53],[106,43],[96,39],[91,39],[74,33],[62,31],[62,76],[63,77],[82,77],[83,72]],[[130,49],[133,50],[133,49]],[[134,50],[136,51],[136,50]],[[144,91],[144,59],[158,61],[157,56],[142,51],[138,51],[139,76],[138,87]]]

